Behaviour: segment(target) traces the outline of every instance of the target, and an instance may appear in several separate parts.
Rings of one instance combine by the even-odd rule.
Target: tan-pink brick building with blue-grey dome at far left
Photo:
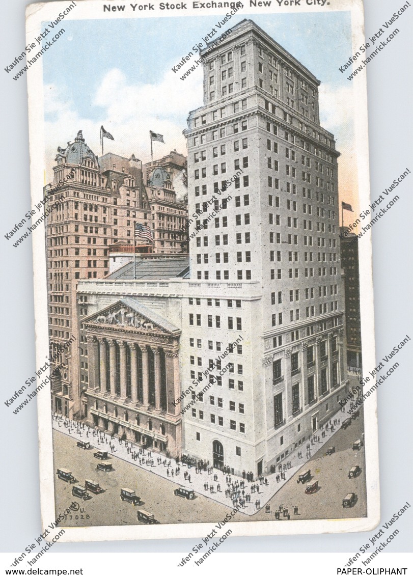
[[[48,202],[64,199],[46,221],[51,356],[56,355],[59,344],[78,332],[78,281],[104,278],[114,245],[118,252],[130,250],[133,257],[134,221],[154,228],[154,202],[148,198],[140,160],[111,153],[98,158],[81,131],[74,142],[58,147],[55,160],[53,184],[44,188]],[[179,206],[185,220],[185,207]],[[150,252],[153,248],[143,245],[138,250]],[[71,417],[80,414],[81,391],[87,386],[87,381],[79,378],[81,367],[88,365],[86,354],[85,344],[77,342],[58,357],[53,369],[53,409]],[[65,367],[56,368],[62,362]]]

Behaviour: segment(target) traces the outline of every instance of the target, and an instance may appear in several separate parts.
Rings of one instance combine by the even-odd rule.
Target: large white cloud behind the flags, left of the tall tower
[[[202,105],[202,66],[184,81],[168,69],[158,84],[141,85],[129,84],[126,75],[118,69],[109,70],[96,93],[90,96],[90,107],[100,107],[102,111],[96,122],[79,116],[67,95],[69,93],[55,85],[45,86],[48,180],[51,179],[56,148],[73,141],[78,130],[83,131],[88,145],[100,156],[102,124],[115,138],[114,141],[104,139],[105,152],[126,157],[134,153],[147,162],[150,160],[149,131],[153,130],[162,134],[165,141],[165,144],[153,143],[154,158],[174,149],[186,155],[182,131],[187,126],[188,113]],[[96,116],[96,108],[93,112]]]

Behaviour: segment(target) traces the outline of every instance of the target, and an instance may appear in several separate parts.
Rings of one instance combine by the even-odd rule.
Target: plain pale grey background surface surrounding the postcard
[[[366,37],[372,36],[404,2],[365,0]],[[25,46],[25,0],[3,3],[3,65]],[[412,162],[412,15],[397,21],[400,34],[367,66],[370,182],[372,199],[391,185]],[[10,58],[12,56],[12,58]],[[32,243],[13,248],[3,234],[30,206],[26,79],[13,81],[0,70],[2,115],[1,183],[1,346],[2,440],[0,551],[18,552],[40,534],[37,412],[32,402],[14,415],[3,401],[35,371]],[[373,228],[376,357],[381,359],[412,330],[413,174],[397,188],[399,202]],[[411,500],[411,344],[397,355],[400,367],[378,392],[381,520],[386,522]],[[411,502],[410,502],[411,503]],[[400,534],[389,552],[411,551],[411,511],[397,521]],[[409,526],[410,524],[410,526]],[[369,533],[278,537],[232,537],[226,552],[351,552]],[[196,540],[158,540],[59,544],[59,552],[188,551]]]

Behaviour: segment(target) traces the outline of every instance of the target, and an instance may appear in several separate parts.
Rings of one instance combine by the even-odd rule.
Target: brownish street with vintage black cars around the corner
[[[295,467],[297,471],[279,490],[274,494],[274,476],[268,476],[271,480],[272,497],[270,494],[264,495],[263,488],[259,487],[259,493],[251,494],[251,502],[246,514],[236,514],[234,522],[240,521],[265,521],[275,520],[275,511],[279,507],[287,509],[291,520],[309,520],[323,518],[359,518],[366,516],[366,486],[365,486],[365,462],[364,447],[361,450],[353,450],[353,442],[362,438],[363,419],[362,411],[359,418],[352,420],[347,429],[339,428],[328,442],[324,444],[309,460],[302,458],[301,468]],[[177,524],[178,522],[215,522],[222,520],[229,508],[224,503],[214,501],[205,497],[199,490],[199,480],[212,480],[213,476],[203,472],[199,478],[195,478],[194,468],[191,468],[191,483],[184,480],[183,472],[187,468],[180,467],[180,474],[177,481],[162,478],[159,473],[154,473],[149,469],[138,467],[123,459],[110,454],[108,446],[96,444],[96,437],[90,435],[90,444],[94,448],[84,450],[76,445],[76,438],[54,430],[54,473],[55,473],[55,498],[56,515],[60,510],[65,510],[72,501],[79,503],[79,511],[66,520],[67,526],[107,526],[107,525],[134,525],[139,524],[137,520],[137,510],[143,509],[154,514],[154,517],[161,524]],[[84,438],[85,439],[85,438]],[[326,450],[335,446],[335,453],[325,456]],[[97,471],[96,465],[101,462],[93,457],[97,450],[108,450],[109,459],[104,461],[112,464],[113,471]],[[153,453],[156,461],[158,454]],[[163,457],[162,457],[163,458]],[[348,471],[351,467],[359,465],[362,469],[358,478],[349,479]],[[175,461],[171,464],[176,469]],[[100,483],[104,488],[101,494],[93,494],[88,501],[74,497],[71,488],[74,484],[68,484],[56,476],[57,468],[67,468],[77,479],[76,484],[84,485],[85,480],[92,480]],[[305,494],[305,484],[298,484],[298,475],[310,469],[310,483],[318,480],[319,488],[313,494]],[[255,484],[259,482],[256,481]],[[195,499],[187,500],[176,496],[173,491],[179,486],[186,486],[195,489]],[[245,492],[250,494],[250,483],[245,482]],[[120,499],[121,488],[135,490],[142,502],[138,506]],[[225,480],[222,491],[225,490]],[[268,489],[267,489],[268,492]],[[353,507],[343,508],[343,498],[348,492],[357,494],[357,502]],[[260,499],[261,509],[255,513],[254,502]],[[231,506],[230,499],[227,499]],[[270,513],[266,513],[266,505],[270,506]],[[298,507],[298,514],[294,515],[294,507]],[[287,514],[286,513],[286,514]],[[287,520],[281,510],[280,521]]]

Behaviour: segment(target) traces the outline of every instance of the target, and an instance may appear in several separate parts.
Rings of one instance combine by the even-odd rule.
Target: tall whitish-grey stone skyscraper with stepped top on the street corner
[[[202,213],[192,223],[202,227],[190,231],[191,278],[214,287],[214,302],[242,282],[240,309],[219,323],[251,332],[223,410],[217,399],[211,404],[213,420],[222,414],[230,430],[243,420],[244,442],[227,456],[226,439],[216,459],[223,452],[236,463],[247,453],[260,472],[337,410],[347,382],[339,153],[320,126],[319,80],[254,22],[243,20],[205,54],[204,105],[190,113],[186,131],[190,219]],[[214,346],[216,312],[202,328]],[[248,401],[240,401],[240,385]],[[207,445],[217,430],[212,410],[203,415]],[[185,416],[190,452],[203,446],[196,426]]]

